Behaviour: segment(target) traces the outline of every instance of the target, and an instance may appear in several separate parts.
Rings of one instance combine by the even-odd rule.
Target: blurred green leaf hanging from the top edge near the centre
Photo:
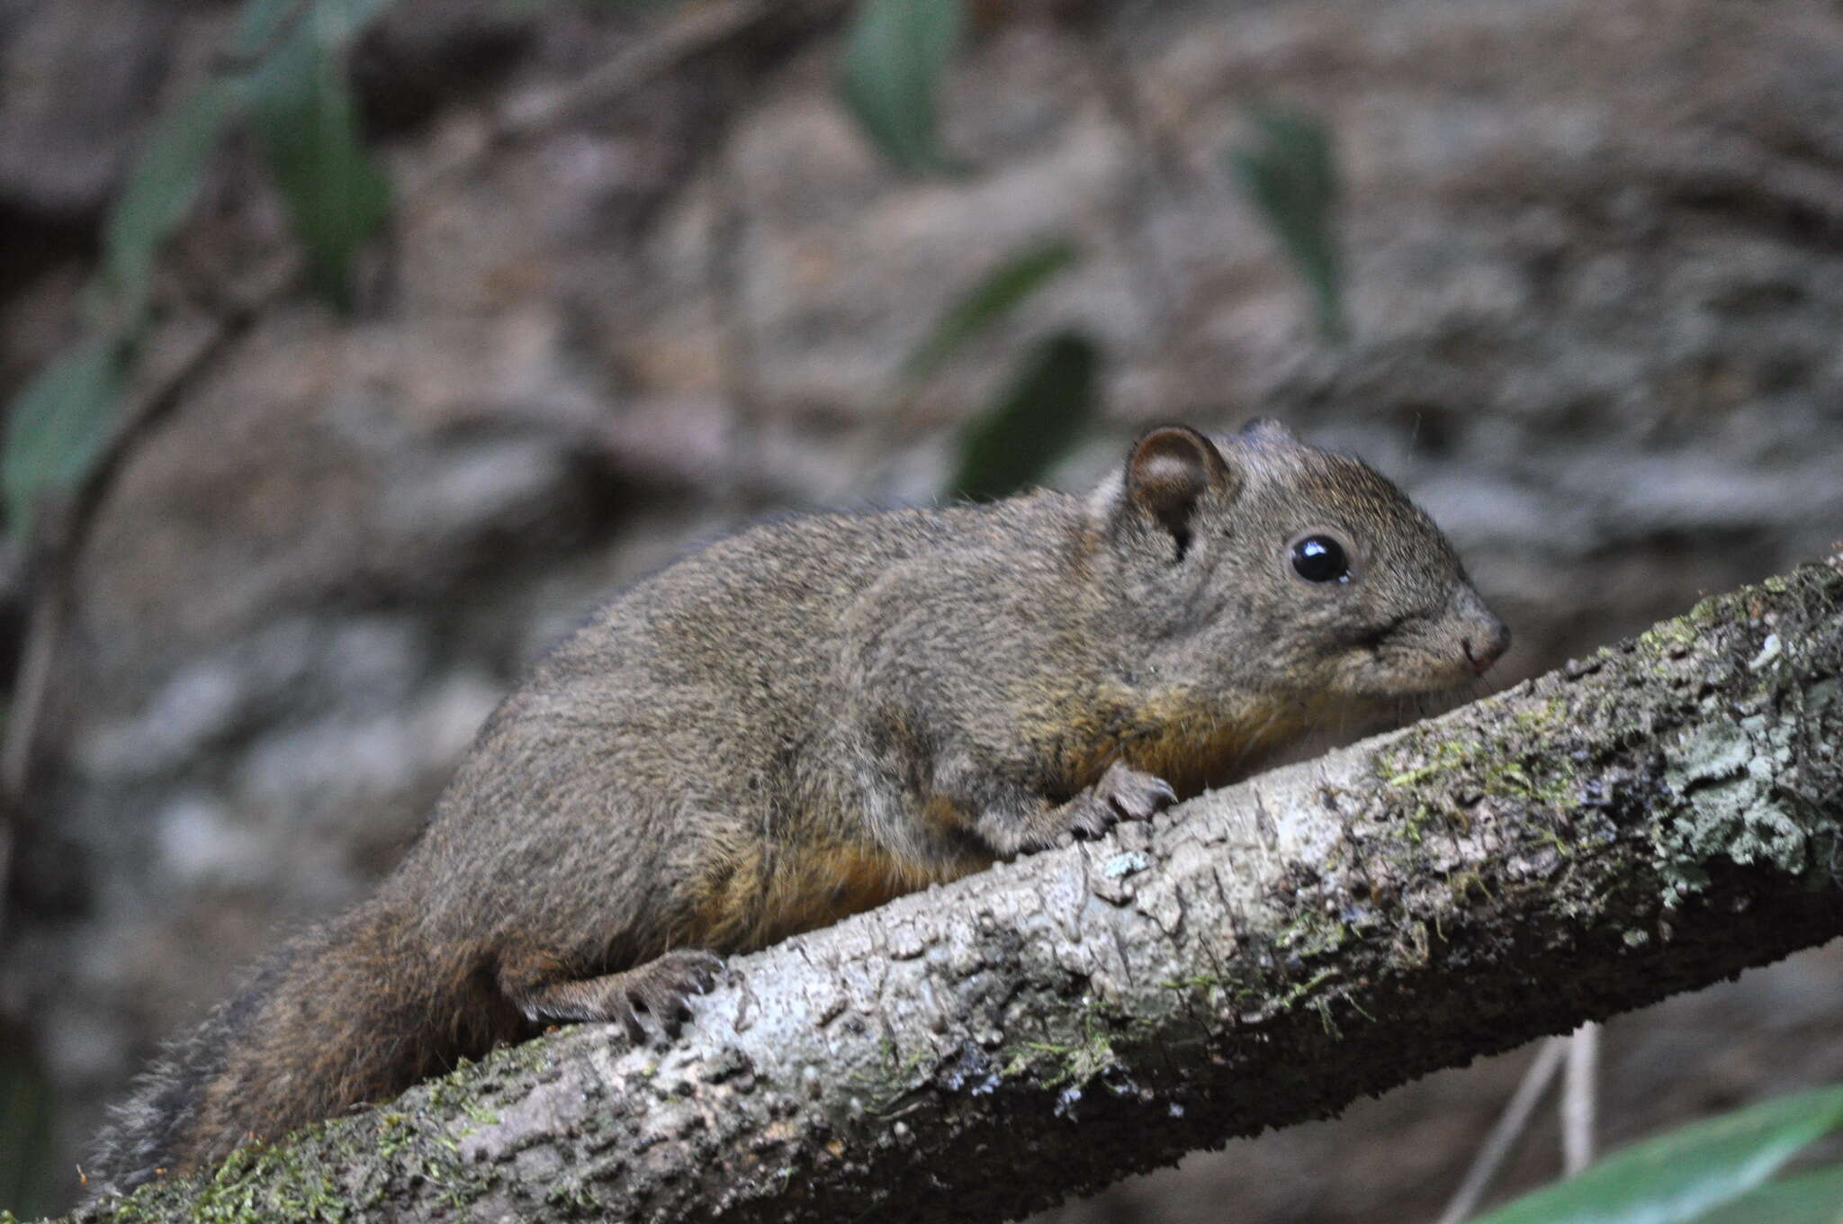
[[[903,170],[949,168],[934,98],[964,28],[964,0],[861,0],[844,35],[844,105]]]

